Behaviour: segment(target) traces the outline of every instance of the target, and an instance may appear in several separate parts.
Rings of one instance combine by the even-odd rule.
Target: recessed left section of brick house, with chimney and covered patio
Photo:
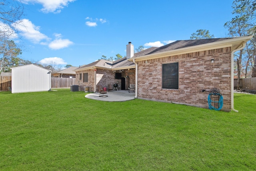
[[[129,49],[130,48],[130,49]],[[98,85],[102,87],[118,84],[118,89],[128,89],[122,85],[123,78],[128,80],[128,84],[135,84],[135,64],[127,59],[132,56],[141,56],[155,50],[156,47],[148,48],[134,54],[133,45],[127,45],[126,57],[116,61],[97,60],[88,65],[76,68],[76,84],[79,90],[83,91],[89,87],[90,91],[98,91]],[[113,87],[112,87],[113,88]]]

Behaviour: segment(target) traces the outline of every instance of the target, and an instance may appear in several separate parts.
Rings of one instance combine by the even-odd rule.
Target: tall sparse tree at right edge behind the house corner
[[[235,15],[231,21],[226,22],[224,26],[228,28],[229,35],[247,36],[255,32],[255,0],[234,0],[232,14]],[[254,41],[247,42],[246,48],[234,54],[234,64],[236,65],[238,86],[241,77],[249,76],[249,72],[255,70],[253,61],[255,61],[255,46]],[[254,54],[253,54],[254,53]],[[250,64],[250,65],[249,65]],[[252,74],[253,75],[253,74]],[[251,75],[251,76],[252,76]],[[239,87],[237,87],[239,89]]]

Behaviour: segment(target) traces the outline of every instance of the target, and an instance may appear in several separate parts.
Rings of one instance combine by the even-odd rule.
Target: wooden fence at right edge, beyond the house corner
[[[240,89],[248,89],[256,91],[256,77],[242,78],[239,82]],[[234,79],[234,89],[237,88],[237,79]]]

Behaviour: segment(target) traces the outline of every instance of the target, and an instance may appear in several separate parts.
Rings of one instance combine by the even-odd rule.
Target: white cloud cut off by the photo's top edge
[[[74,2],[75,0],[21,0],[22,3],[38,3],[42,4],[44,8],[41,9],[44,13],[54,12],[60,13],[61,9],[65,6],[68,6],[70,2]]]

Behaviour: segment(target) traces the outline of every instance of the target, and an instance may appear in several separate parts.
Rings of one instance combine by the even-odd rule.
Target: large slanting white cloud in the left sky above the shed
[[[21,35],[32,41],[33,43],[39,43],[42,40],[50,40],[48,36],[42,34],[40,30],[40,26],[35,26],[30,20],[23,19],[21,20],[22,24],[13,24],[19,30]]]

